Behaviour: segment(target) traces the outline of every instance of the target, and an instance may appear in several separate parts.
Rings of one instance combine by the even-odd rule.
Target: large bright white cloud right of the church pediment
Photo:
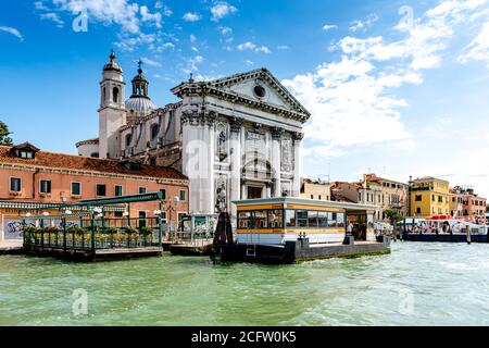
[[[358,146],[410,144],[412,134],[401,120],[408,102],[391,89],[422,84],[421,71],[439,66],[454,25],[463,23],[484,2],[441,1],[415,20],[401,40],[344,37],[335,46],[341,50],[340,61],[285,80],[312,112],[304,128],[306,150],[341,156]],[[367,17],[354,30],[366,29],[377,18]]]

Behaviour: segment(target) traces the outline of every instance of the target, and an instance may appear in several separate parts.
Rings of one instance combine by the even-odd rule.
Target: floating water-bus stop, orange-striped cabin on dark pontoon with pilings
[[[236,238],[229,235],[226,215],[220,216],[215,235],[213,254],[224,262],[284,264],[390,253],[390,240],[375,237],[373,206],[302,198],[233,203],[238,212]]]

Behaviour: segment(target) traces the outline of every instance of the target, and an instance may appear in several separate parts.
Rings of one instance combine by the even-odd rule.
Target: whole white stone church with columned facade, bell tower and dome
[[[190,213],[234,212],[234,200],[299,197],[302,126],[310,113],[265,69],[172,89],[179,102],[158,108],[141,66],[124,101],[112,52],[100,84],[99,136],[80,156],[173,166],[190,181]],[[235,214],[233,214],[235,215]]]

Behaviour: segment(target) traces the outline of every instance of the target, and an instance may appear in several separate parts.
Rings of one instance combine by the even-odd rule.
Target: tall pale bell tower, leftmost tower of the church
[[[99,156],[101,159],[116,159],[121,156],[118,129],[126,124],[125,95],[126,84],[123,71],[112,50],[110,62],[103,66],[100,83]]]

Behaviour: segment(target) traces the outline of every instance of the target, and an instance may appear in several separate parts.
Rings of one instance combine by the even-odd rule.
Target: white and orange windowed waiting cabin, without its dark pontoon
[[[375,207],[301,198],[234,202],[238,243],[279,245],[306,236],[310,243],[341,243],[350,222],[355,240],[373,240]]]

